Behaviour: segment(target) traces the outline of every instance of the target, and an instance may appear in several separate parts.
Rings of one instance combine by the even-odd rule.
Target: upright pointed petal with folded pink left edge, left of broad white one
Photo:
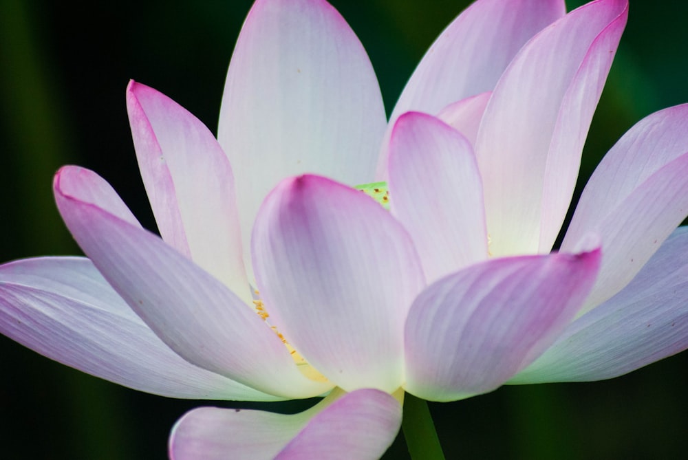
[[[162,239],[250,302],[234,178],[217,140],[186,109],[133,80],[127,111]]]

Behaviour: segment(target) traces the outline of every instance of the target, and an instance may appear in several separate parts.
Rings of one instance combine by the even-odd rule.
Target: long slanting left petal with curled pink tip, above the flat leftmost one
[[[114,199],[89,193],[84,176],[96,182],[94,173],[74,167],[55,177],[67,227],[110,285],[171,349],[265,393],[308,397],[327,390],[297,371],[281,340],[222,283],[160,238],[101,208]]]

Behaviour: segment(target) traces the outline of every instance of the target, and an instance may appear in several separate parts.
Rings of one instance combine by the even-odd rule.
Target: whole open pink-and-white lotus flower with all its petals
[[[405,392],[453,401],[677,353],[688,106],[619,140],[551,252],[626,17],[625,0],[569,14],[560,0],[479,0],[387,123],[334,8],[258,0],[219,140],[157,91],[127,88],[162,239],[103,179],[65,166],[55,197],[88,259],[0,267],[0,330],[159,395],[327,395],[296,415],[192,410],[173,430],[175,459],[376,458]],[[389,211],[352,188],[374,180]]]

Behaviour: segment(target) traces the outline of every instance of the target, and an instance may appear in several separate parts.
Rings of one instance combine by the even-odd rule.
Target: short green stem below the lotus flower
[[[424,399],[406,393],[401,428],[404,430],[411,459],[444,460],[440,439],[437,437],[435,424]]]

